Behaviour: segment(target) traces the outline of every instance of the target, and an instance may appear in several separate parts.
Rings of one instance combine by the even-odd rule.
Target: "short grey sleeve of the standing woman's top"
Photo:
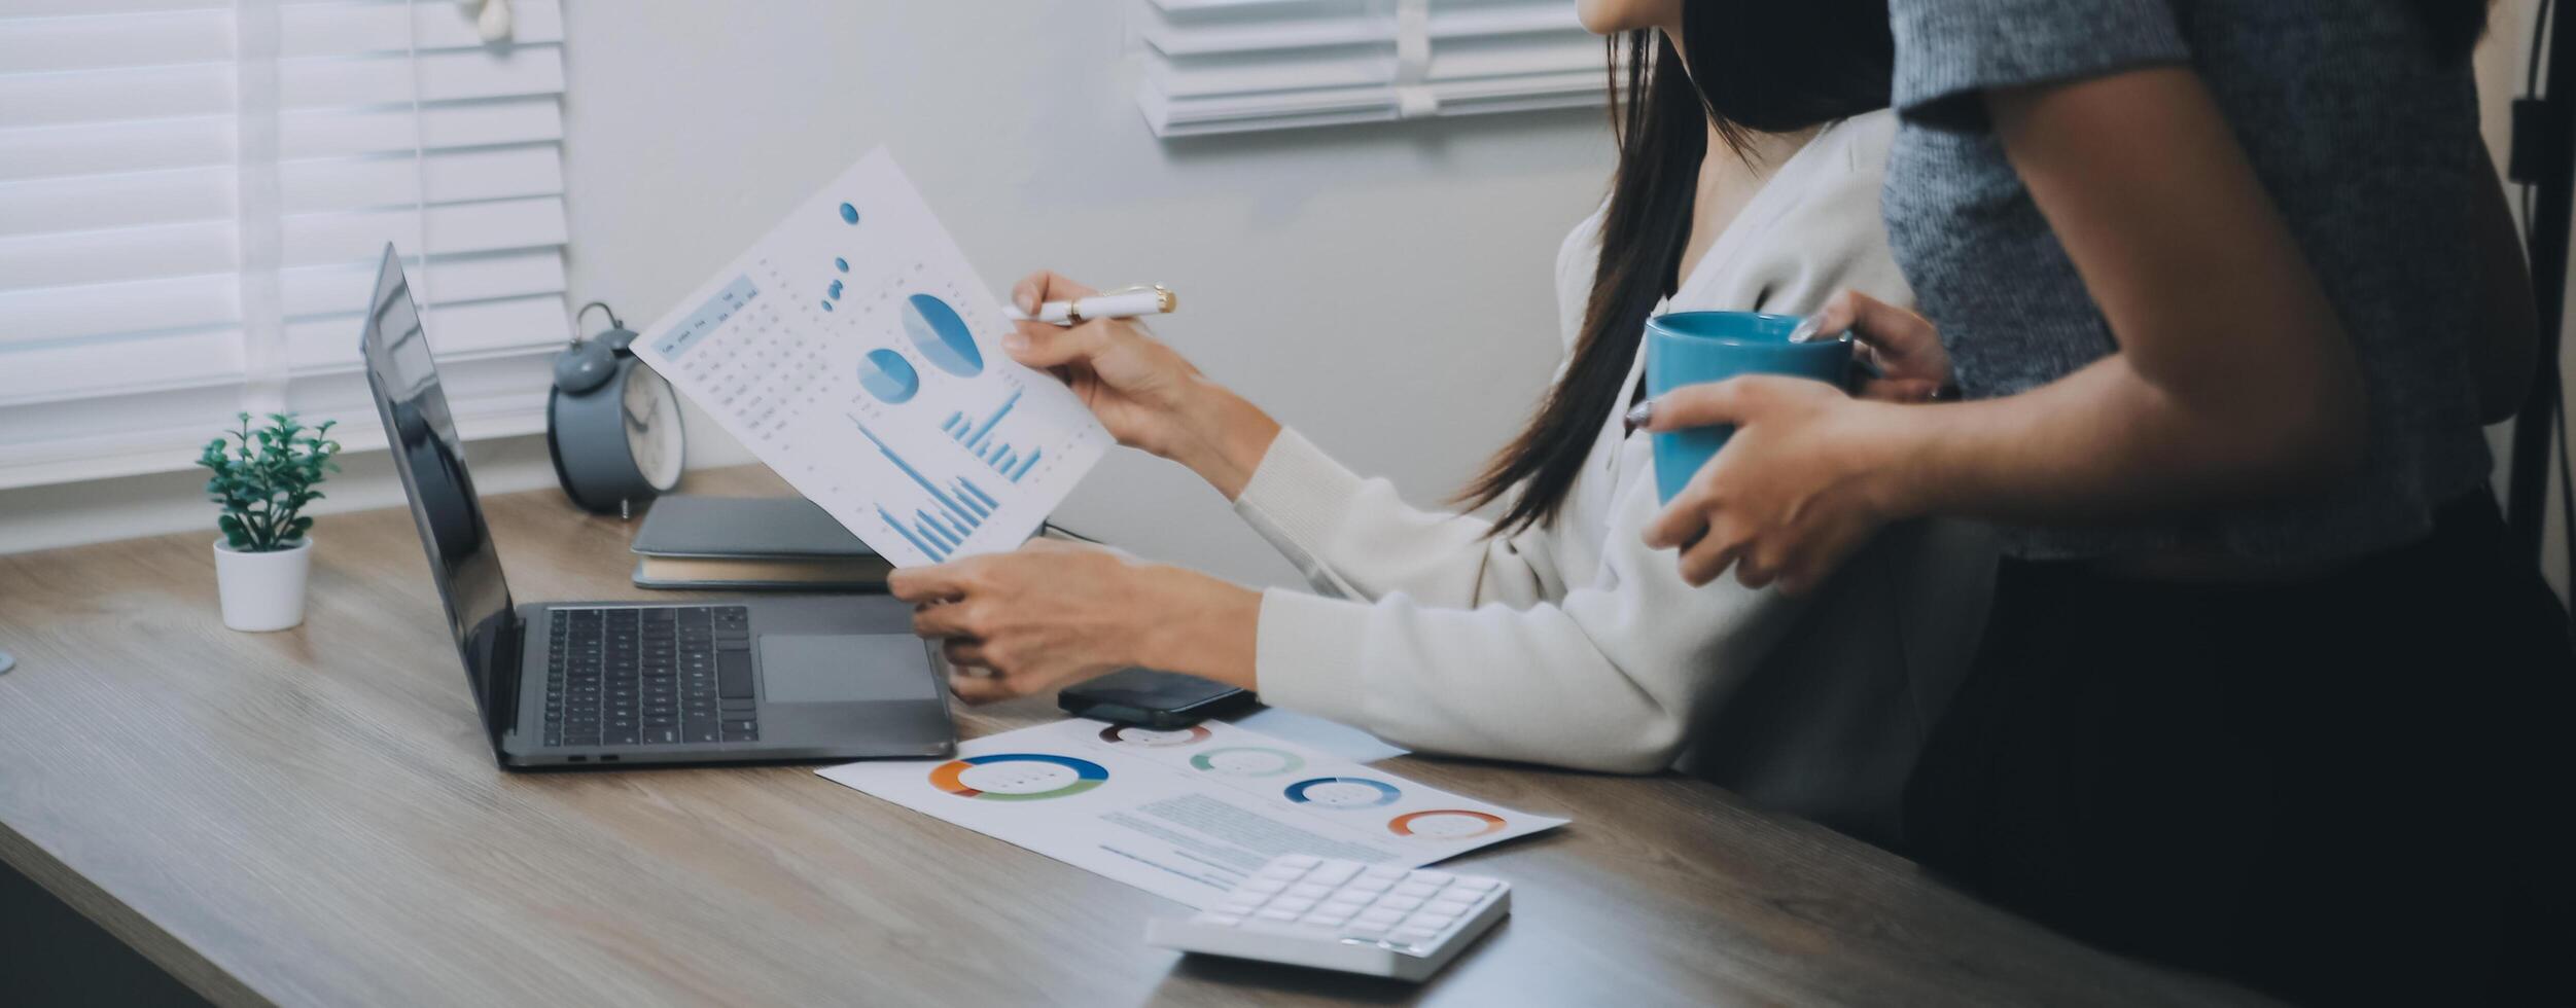
[[[1919,0],[1893,21],[1896,111],[1940,129],[1984,126],[1984,90],[2192,59],[2172,0]]]

